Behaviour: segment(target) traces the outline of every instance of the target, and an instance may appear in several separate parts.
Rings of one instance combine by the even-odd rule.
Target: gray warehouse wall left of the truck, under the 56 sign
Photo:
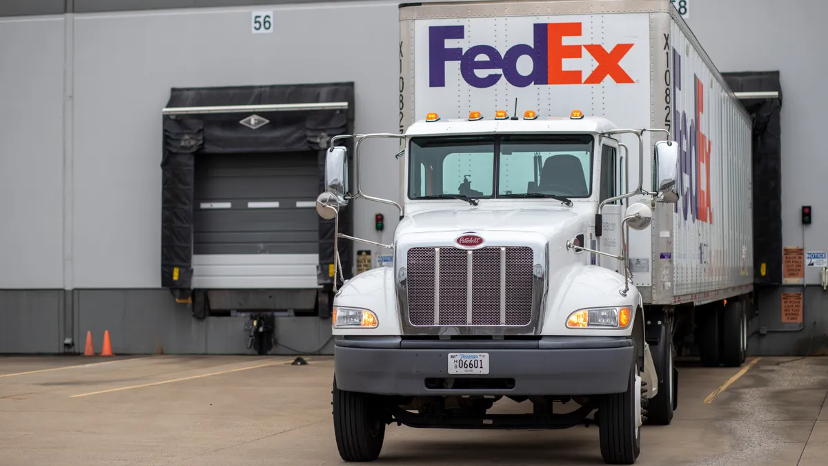
[[[0,193],[13,200],[0,204],[0,352],[83,351],[105,329],[115,352],[249,352],[246,318],[196,321],[160,289],[161,109],[176,86],[354,81],[355,130],[395,132],[397,3],[271,4],[274,32],[256,35],[262,7],[67,6],[0,5]],[[365,192],[397,197],[395,153],[365,145]],[[349,208],[357,235],[377,237],[378,211],[387,234],[397,224],[384,206]],[[330,320],[277,325],[277,352],[330,352]]]

